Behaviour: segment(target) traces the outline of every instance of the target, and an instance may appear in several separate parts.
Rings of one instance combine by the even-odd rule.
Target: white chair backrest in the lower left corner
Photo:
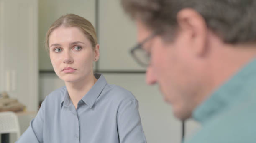
[[[0,134],[16,133],[20,137],[20,125],[14,112],[0,112]]]

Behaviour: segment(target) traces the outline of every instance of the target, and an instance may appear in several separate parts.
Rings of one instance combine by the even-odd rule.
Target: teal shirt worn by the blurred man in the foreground
[[[185,143],[256,143],[256,59],[198,106],[192,117],[202,129]]]

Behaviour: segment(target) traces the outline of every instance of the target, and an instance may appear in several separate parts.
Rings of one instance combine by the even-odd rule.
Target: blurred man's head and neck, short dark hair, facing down
[[[122,4],[136,21],[138,41],[147,39],[141,45],[151,55],[147,82],[159,84],[178,118],[189,118],[256,49],[241,48],[256,42],[254,0],[122,0]],[[241,60],[234,57],[240,55]]]

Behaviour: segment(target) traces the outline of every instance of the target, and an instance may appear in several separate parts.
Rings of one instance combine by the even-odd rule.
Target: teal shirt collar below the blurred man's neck
[[[228,108],[239,99],[256,94],[256,59],[243,67],[235,76],[223,84],[205,102],[198,106],[192,117],[204,124],[216,113]]]

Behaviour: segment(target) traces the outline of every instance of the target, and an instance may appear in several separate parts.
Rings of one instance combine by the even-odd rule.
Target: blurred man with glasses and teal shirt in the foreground
[[[202,129],[188,143],[256,142],[256,1],[122,0],[131,50],[174,115]],[[141,54],[143,53],[144,54]]]

